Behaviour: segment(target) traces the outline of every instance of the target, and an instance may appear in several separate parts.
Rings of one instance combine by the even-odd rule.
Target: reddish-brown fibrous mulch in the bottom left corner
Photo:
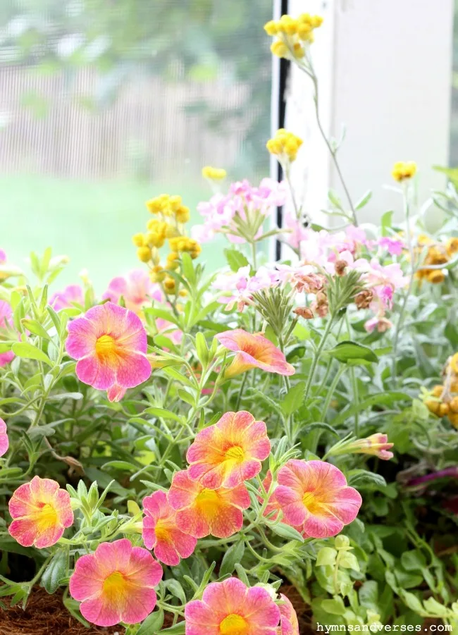
[[[70,615],[62,602],[62,593],[50,596],[44,588],[35,588],[30,594],[25,611],[16,605],[0,609],[0,635],[124,635],[120,626],[87,629]]]

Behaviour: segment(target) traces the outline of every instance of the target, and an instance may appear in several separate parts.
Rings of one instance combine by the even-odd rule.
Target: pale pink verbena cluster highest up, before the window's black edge
[[[237,233],[235,216],[242,221],[253,215],[266,218],[276,206],[285,204],[286,199],[285,183],[271,178],[261,180],[259,187],[250,185],[247,180],[232,183],[227,195],[216,194],[209,202],[199,203],[197,209],[204,216],[204,224],[192,228],[192,238],[208,242],[216,233],[225,233],[231,242],[245,242]]]

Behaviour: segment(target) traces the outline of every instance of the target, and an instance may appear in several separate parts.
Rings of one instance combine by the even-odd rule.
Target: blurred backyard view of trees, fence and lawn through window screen
[[[161,192],[211,196],[203,165],[268,175],[271,0],[4,0],[0,226],[10,261],[51,246],[97,290],[136,266]],[[209,268],[223,241],[204,245]]]

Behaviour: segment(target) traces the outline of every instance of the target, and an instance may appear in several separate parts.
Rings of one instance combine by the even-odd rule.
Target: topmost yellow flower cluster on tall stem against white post
[[[301,59],[305,55],[305,45],[314,42],[314,30],[322,23],[321,16],[302,13],[299,18],[281,16],[280,20],[270,20],[264,30],[267,35],[276,37],[271,46],[274,55]]]

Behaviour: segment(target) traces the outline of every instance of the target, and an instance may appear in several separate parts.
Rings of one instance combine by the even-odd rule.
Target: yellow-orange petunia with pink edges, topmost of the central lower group
[[[264,421],[245,410],[226,412],[201,430],[187,450],[188,474],[209,489],[233,488],[254,479],[271,451]]]

